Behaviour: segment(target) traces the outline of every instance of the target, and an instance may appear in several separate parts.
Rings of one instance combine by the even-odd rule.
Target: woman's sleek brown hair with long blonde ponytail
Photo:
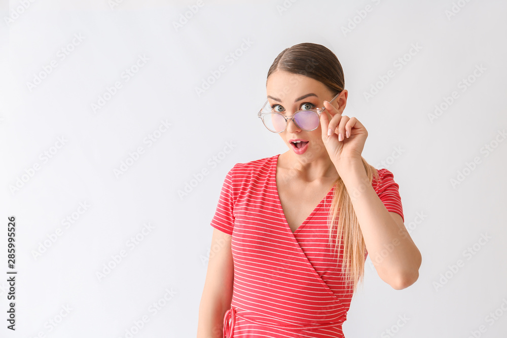
[[[333,96],[345,88],[340,61],[332,51],[321,45],[302,43],[284,49],[271,64],[267,78],[277,70],[301,74],[320,81],[331,90]],[[377,169],[368,164],[363,157],[361,160],[370,183],[373,182],[373,178],[378,180]],[[328,217],[329,244],[335,252],[339,250],[343,253],[344,282],[355,292],[357,285],[364,278],[366,244],[352,206],[350,192],[347,192],[341,177],[335,181],[334,187],[335,194]],[[338,259],[336,263],[338,267]]]

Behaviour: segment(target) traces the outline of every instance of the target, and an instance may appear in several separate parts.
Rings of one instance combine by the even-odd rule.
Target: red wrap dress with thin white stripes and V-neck
[[[343,252],[337,258],[328,244],[334,187],[293,233],[276,190],[278,156],[235,164],[211,220],[232,236],[234,290],[224,337],[344,337],[352,290],[343,280]],[[393,174],[377,170],[375,192],[403,217]]]

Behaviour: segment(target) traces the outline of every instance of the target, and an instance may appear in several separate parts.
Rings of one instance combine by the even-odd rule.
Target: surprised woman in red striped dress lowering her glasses
[[[344,86],[320,45],[287,48],[271,65],[259,117],[288,151],[237,163],[225,178],[198,338],[344,337],[368,254],[394,289],[417,280],[399,185],[361,156],[368,132],[342,115]]]

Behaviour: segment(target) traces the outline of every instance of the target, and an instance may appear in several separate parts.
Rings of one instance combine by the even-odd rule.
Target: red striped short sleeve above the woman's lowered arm
[[[234,230],[233,211],[236,200],[233,196],[232,187],[234,167],[229,170],[225,177],[224,184],[222,185],[222,191],[220,193],[219,203],[216,206],[215,214],[211,219],[211,226],[213,228],[231,236],[232,231]]]

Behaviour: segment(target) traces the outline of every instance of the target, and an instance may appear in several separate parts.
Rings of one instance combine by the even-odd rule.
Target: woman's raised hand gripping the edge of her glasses
[[[361,161],[361,153],[363,153],[368,137],[365,126],[356,118],[342,115],[328,101],[324,101],[324,107],[325,111],[320,114],[320,128],[322,129],[322,141],[331,160],[334,163],[346,163],[350,160]],[[331,121],[329,121],[328,114],[331,116]],[[329,128],[333,131],[330,136],[328,136]],[[342,135],[340,139],[339,134]]]

